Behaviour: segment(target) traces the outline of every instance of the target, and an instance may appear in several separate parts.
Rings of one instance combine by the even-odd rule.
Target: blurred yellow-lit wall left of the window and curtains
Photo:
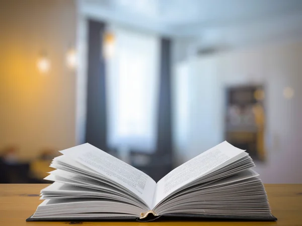
[[[1,1],[0,149],[16,145],[29,159],[75,144],[76,78],[65,54],[76,19],[72,0]],[[51,60],[47,75],[36,67],[41,51]]]

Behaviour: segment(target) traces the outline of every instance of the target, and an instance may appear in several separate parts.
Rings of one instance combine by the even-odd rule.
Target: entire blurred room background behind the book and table
[[[0,183],[89,142],[156,181],[227,140],[302,183],[302,1],[1,0]]]

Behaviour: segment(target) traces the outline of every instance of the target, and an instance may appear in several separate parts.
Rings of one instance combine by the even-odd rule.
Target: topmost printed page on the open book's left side
[[[152,206],[156,182],[140,170],[89,143],[62,150],[60,153],[120,184],[147,206]]]

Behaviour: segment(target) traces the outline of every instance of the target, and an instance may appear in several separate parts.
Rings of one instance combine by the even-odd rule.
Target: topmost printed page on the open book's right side
[[[232,163],[241,153],[244,150],[224,141],[172,170],[157,183],[153,207],[177,189],[219,169],[225,163]]]

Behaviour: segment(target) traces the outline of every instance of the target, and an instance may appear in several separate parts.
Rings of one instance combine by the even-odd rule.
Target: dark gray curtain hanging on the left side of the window
[[[105,23],[89,21],[86,142],[106,151],[106,78],[103,58]]]

